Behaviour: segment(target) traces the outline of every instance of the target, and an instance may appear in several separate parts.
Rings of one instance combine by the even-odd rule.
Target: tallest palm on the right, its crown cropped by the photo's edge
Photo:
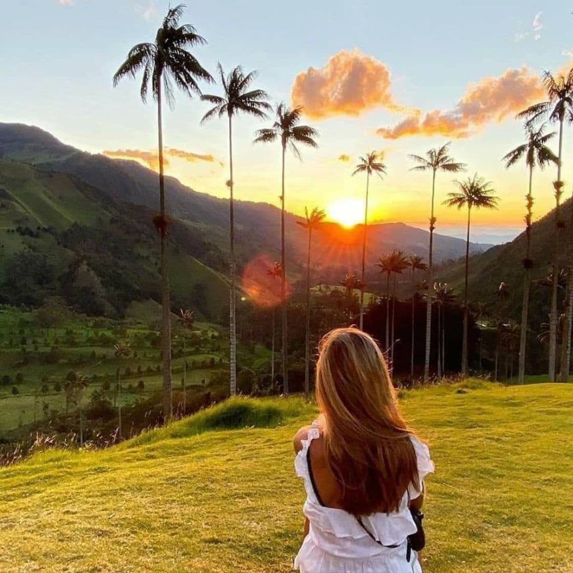
[[[533,104],[521,113],[519,119],[527,120],[526,125],[533,125],[539,121],[559,123],[559,152],[557,163],[557,180],[555,189],[555,249],[553,254],[554,282],[551,289],[551,311],[549,317],[549,381],[555,382],[555,369],[557,361],[557,276],[559,266],[559,236],[564,223],[559,218],[559,202],[562,195],[563,182],[561,168],[563,165],[563,125],[565,121],[573,120],[573,69],[567,76],[553,76],[550,72],[543,73],[543,85],[547,90],[547,100]],[[563,356],[562,356],[563,358]],[[564,366],[562,364],[562,366]],[[568,370],[568,364],[567,364]]]

